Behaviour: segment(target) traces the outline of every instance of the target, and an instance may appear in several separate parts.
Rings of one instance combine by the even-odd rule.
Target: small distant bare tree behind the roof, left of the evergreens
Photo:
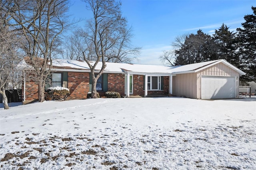
[[[176,36],[174,41],[171,43],[172,49],[163,51],[163,54],[159,56],[159,59],[162,61],[164,65],[170,65],[170,66],[175,65],[175,59],[176,59],[175,51],[182,47],[182,44],[184,44],[187,37],[188,37],[188,34],[182,34],[180,36]]]

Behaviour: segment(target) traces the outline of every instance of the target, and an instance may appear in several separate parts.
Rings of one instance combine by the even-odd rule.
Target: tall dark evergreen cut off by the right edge
[[[244,16],[243,28],[238,28],[238,55],[242,70],[246,73],[242,82],[256,81],[256,7],[253,14]]]

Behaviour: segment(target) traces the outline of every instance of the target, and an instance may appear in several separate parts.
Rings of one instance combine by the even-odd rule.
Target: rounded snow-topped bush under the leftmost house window
[[[52,100],[65,100],[69,95],[69,89],[65,87],[50,87],[46,91]]]

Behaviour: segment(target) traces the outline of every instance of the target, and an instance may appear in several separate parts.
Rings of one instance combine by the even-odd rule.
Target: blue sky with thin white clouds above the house
[[[171,49],[176,36],[196,33],[206,34],[226,24],[236,30],[244,16],[252,14],[256,0],[121,0],[122,14],[132,26],[132,45],[142,47],[134,63],[161,65],[158,58],[163,50]],[[71,0],[70,14],[75,19],[90,19],[91,12],[85,2]],[[71,18],[72,18],[71,17]],[[78,23],[84,26],[85,21]]]

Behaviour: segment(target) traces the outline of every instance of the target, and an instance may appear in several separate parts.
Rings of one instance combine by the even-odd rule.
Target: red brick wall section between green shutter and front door
[[[124,96],[124,74],[108,73],[108,91],[115,91]]]

